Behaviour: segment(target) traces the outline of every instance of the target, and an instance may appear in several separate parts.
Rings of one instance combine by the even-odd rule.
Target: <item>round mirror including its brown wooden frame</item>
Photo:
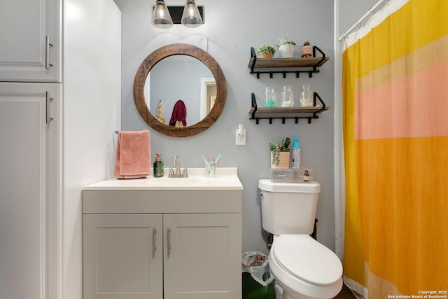
[[[172,56],[174,58],[167,59]],[[200,75],[193,76],[193,69],[197,67],[190,65],[193,64],[191,61],[184,60],[189,57],[193,61],[197,60],[195,63],[200,63],[201,67],[204,64],[209,73],[200,71]],[[165,59],[168,64],[171,64],[172,60],[181,60],[186,61],[186,65],[177,69],[164,65]],[[157,71],[158,67],[160,71]],[[182,69],[184,71],[181,71]],[[162,80],[155,79],[158,77],[156,72],[162,73]],[[183,74],[180,74],[181,72]],[[174,76],[178,75],[182,77],[181,83],[177,82],[179,79],[174,79]],[[195,86],[195,91],[181,90],[181,87],[192,86]],[[158,48],[141,62],[135,74],[133,92],[135,106],[145,123],[167,136],[189,137],[204,132],[216,122],[224,109],[227,88],[223,71],[214,57],[196,46],[174,43]],[[190,97],[190,94],[193,94],[193,97]],[[179,120],[171,126],[169,122],[172,120],[173,111],[175,118]],[[176,127],[176,123],[184,127]]]

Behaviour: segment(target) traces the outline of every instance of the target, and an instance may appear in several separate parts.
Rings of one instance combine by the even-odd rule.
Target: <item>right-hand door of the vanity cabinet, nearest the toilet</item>
[[[164,214],[165,299],[241,298],[241,214]]]

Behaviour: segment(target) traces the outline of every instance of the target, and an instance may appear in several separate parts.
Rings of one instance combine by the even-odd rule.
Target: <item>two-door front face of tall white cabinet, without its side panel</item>
[[[0,9],[0,297],[58,298],[62,281],[61,4]],[[59,244],[58,244],[59,242]]]

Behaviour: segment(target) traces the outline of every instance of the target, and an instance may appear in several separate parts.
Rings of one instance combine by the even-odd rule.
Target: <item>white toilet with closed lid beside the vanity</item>
[[[335,298],[342,289],[342,263],[330,249],[310,237],[318,193],[316,181],[258,181],[262,228],[274,235],[269,268],[283,288],[281,299]]]

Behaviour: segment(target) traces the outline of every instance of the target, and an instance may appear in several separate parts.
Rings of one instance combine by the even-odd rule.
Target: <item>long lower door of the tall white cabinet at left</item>
[[[59,84],[0,83],[1,299],[57,298],[59,96]]]

